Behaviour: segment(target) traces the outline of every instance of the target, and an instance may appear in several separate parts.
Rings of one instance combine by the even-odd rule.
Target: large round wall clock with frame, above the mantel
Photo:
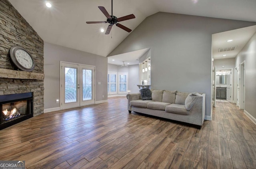
[[[21,46],[12,46],[10,49],[10,58],[18,69],[26,72],[32,72],[35,68],[35,62],[31,54]]]

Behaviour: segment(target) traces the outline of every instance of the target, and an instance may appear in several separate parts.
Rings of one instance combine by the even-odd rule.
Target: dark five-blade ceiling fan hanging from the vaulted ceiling
[[[101,24],[101,23],[109,23],[110,25],[108,26],[105,34],[109,34],[111,31],[111,28],[114,24],[116,24],[117,27],[127,31],[131,32],[132,30],[127,28],[126,26],[123,26],[122,24],[119,24],[117,22],[121,22],[124,20],[129,20],[135,18],[134,14],[130,14],[127,16],[123,16],[121,18],[117,18],[116,16],[113,16],[113,0],[111,0],[111,8],[112,8],[112,13],[111,15],[108,14],[108,11],[104,8],[104,6],[98,6],[98,8],[101,10],[101,12],[107,17],[107,21],[93,21],[93,22],[86,22],[86,24]]]

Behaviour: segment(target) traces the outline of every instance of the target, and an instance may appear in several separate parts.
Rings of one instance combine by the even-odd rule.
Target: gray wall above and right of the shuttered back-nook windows
[[[112,72],[128,72],[128,90],[130,93],[138,93],[139,84],[139,65],[130,65],[130,66],[116,66],[113,64],[108,64],[108,71]]]

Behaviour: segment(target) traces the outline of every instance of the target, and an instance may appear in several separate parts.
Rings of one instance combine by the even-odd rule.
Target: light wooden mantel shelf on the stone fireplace
[[[0,78],[44,80],[44,74],[0,68]]]

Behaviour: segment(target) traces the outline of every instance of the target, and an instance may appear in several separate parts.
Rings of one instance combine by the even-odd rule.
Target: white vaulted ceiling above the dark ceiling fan
[[[111,15],[111,0],[48,0],[47,2],[52,4],[52,8],[45,6],[46,0],[9,1],[38,35],[45,42],[52,44],[106,57],[129,35],[128,32],[116,26],[113,26],[109,35],[105,35],[100,32],[100,28],[106,30],[108,24],[85,23],[86,21],[105,21],[106,17],[98,9],[98,6],[104,6]],[[136,16],[135,19],[120,22],[132,30],[146,17],[157,12],[256,22],[256,0],[113,1],[114,16],[118,18],[128,14]],[[136,53],[140,56],[142,51]],[[120,64],[124,58],[119,56],[117,60],[119,62],[112,64]]]

